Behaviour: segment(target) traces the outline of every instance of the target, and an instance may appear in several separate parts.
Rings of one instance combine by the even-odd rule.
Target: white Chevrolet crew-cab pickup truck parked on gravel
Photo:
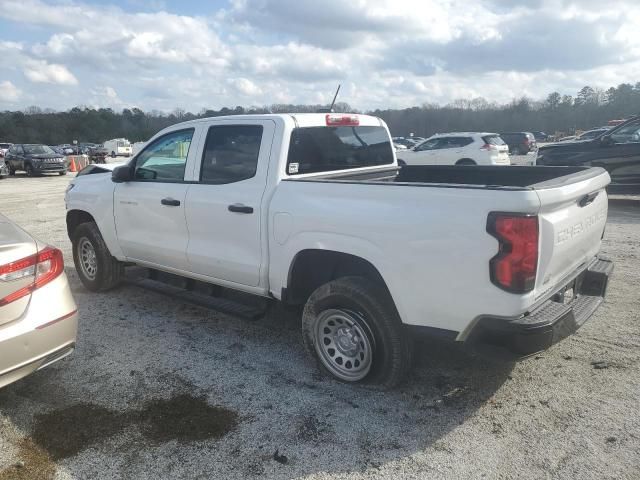
[[[609,175],[582,167],[398,167],[367,115],[217,117],[169,127],[66,194],[84,285],[124,266],[304,306],[326,372],[392,386],[416,332],[533,353],[603,300]]]

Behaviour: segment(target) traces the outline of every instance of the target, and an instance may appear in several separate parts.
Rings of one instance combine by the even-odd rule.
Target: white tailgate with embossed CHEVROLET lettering
[[[536,299],[555,293],[600,250],[607,221],[605,187],[611,179],[599,170],[598,175],[570,175],[555,185],[535,187],[540,199]]]

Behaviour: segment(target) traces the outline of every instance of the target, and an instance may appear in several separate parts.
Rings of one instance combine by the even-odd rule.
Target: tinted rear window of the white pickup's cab
[[[383,127],[305,127],[291,133],[289,175],[391,164],[393,147]]]

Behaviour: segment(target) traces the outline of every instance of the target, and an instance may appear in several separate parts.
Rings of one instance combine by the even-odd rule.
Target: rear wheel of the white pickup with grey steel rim
[[[364,277],[317,288],[304,307],[302,338],[320,370],[347,383],[392,388],[411,365],[411,342],[391,297]]]

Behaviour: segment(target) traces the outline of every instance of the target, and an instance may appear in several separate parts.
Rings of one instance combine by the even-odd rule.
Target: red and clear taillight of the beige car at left
[[[0,266],[0,282],[11,282],[25,277],[35,277],[26,287],[0,299],[0,307],[29,295],[46,285],[64,271],[62,252],[57,248],[45,247],[36,255]]]

